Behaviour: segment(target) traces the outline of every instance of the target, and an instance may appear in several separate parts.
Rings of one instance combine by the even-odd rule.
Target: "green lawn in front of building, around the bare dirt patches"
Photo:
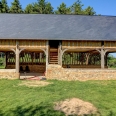
[[[19,86],[23,80],[0,80],[0,116],[64,116],[53,103],[77,97],[116,116],[116,81],[56,81],[45,87]]]

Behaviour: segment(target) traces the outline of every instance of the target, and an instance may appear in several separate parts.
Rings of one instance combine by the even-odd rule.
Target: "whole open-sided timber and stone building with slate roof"
[[[116,17],[0,14],[0,78],[44,73],[48,79],[115,79],[107,55],[116,51]]]

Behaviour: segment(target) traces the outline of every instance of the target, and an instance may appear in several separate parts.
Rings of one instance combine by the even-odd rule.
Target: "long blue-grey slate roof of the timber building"
[[[0,14],[0,39],[116,41],[116,17]]]

